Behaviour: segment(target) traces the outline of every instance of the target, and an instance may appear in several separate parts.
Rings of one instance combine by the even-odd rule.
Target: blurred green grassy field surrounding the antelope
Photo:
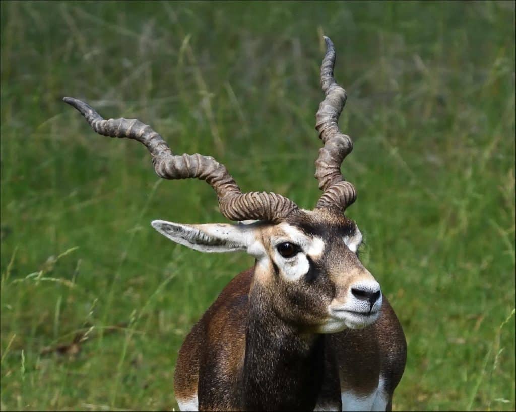
[[[0,8],[2,410],[177,408],[186,333],[253,263],[158,235],[224,221],[212,189],[160,181],[62,96],[312,208],[322,33],[355,142],[347,215],[408,341],[394,408],[516,408],[514,2]]]

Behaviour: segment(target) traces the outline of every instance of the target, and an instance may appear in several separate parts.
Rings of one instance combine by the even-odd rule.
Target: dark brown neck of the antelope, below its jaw
[[[254,285],[246,327],[246,410],[313,410],[324,368],[324,336],[301,334],[271,309]]]

